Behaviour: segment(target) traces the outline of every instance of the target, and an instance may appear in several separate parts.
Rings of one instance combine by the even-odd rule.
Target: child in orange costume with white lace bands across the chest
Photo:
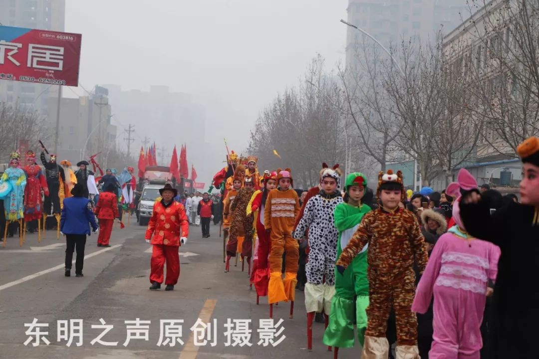
[[[298,281],[299,244],[292,236],[294,221],[300,212],[298,194],[290,168],[277,170],[279,188],[268,193],[264,210],[264,227],[271,240],[269,252],[269,304],[294,300]],[[286,251],[285,279],[282,279],[282,254]]]

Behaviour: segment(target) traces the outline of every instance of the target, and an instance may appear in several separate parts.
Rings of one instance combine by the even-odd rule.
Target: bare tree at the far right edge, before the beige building
[[[516,157],[516,146],[539,133],[538,0],[469,0],[471,40],[459,63],[469,78],[475,119],[485,126],[482,154]],[[479,11],[475,12],[475,9]]]

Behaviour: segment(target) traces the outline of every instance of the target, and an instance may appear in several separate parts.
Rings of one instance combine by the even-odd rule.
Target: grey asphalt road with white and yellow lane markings
[[[247,269],[241,272],[241,264],[231,265],[224,272],[222,239],[218,227],[211,227],[212,237],[202,238],[199,227],[190,227],[189,242],[180,248],[181,274],[172,292],[149,291],[149,261],[151,246],[144,242],[145,228],[132,221],[124,229],[114,228],[111,248],[96,247],[96,237],[86,244],[84,277],[64,277],[63,262],[65,244],[58,241],[56,233],[47,231],[44,240],[37,243],[37,235],[27,235],[26,243],[19,247],[17,238],[8,238],[5,248],[0,247],[0,358],[77,358],[77,359],[208,359],[208,358],[333,358],[321,338],[324,325],[313,325],[313,351],[306,350],[306,313],[303,292],[296,292],[294,318],[288,318],[289,304],[274,307],[274,321],[283,319],[284,339],[277,345],[259,345],[260,319],[268,319],[267,298],[260,298],[256,305],[256,293],[248,287]],[[33,341],[24,345],[30,335],[25,332],[30,324],[48,324],[40,328],[48,331],[36,347]],[[131,339],[126,344],[125,321],[150,320],[148,340],[143,331],[141,339]],[[217,322],[217,340],[206,345],[196,345],[199,330],[191,331],[197,319],[203,323]],[[118,342],[105,346],[91,342],[98,337],[101,325],[113,325],[102,341]],[[226,346],[225,323],[227,319],[251,320],[249,325],[251,346]],[[58,321],[82,320],[82,335],[74,336],[70,347],[60,335]],[[183,320],[181,345],[157,346],[160,341],[160,320]],[[73,323],[76,327],[77,322]],[[201,328],[199,326],[199,328]],[[62,328],[60,322],[60,329]],[[34,330],[35,331],[35,330]],[[74,330],[76,334],[77,331]],[[213,330],[206,334],[214,333]],[[61,333],[60,333],[61,334]],[[134,336],[133,333],[130,336]],[[276,336],[278,341],[281,336]],[[230,337],[230,335],[229,335]],[[166,336],[163,340],[166,339]],[[233,343],[233,337],[232,337]],[[124,345],[126,344],[126,345]],[[357,358],[360,347],[341,349],[339,358]]]

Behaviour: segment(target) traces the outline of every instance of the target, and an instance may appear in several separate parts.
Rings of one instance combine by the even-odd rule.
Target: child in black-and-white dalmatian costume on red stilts
[[[322,173],[320,193],[309,199],[294,237],[305,237],[309,229],[309,255],[306,266],[305,308],[307,309],[308,349],[312,349],[312,323],[316,312],[323,312],[328,325],[331,299],[335,294],[335,259],[338,231],[334,224],[335,207],[343,202],[338,165]]]

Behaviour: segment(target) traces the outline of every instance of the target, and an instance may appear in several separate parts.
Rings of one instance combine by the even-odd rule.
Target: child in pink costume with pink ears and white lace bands
[[[472,175],[462,169],[458,183],[447,193],[477,188]],[[425,313],[434,293],[434,335],[430,359],[479,359],[482,347],[481,322],[485,311],[488,279],[496,279],[500,248],[466,233],[459,215],[459,201],[453,206],[453,226],[432,250],[419,281],[412,311]]]

